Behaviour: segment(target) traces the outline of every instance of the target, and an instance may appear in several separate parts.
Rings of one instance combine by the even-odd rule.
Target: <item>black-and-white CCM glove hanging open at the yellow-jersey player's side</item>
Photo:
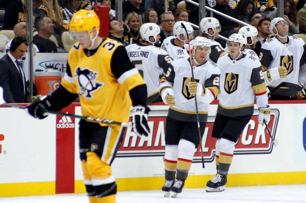
[[[147,106],[133,106],[132,113],[132,124],[133,130],[138,137],[148,136],[150,128],[147,122],[148,113],[150,108]]]

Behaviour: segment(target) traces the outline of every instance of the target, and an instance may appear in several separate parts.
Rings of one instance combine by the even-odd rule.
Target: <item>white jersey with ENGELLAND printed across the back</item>
[[[167,52],[152,45],[126,46],[127,54],[147,85],[147,103],[159,97],[160,74],[167,72],[172,59]]]

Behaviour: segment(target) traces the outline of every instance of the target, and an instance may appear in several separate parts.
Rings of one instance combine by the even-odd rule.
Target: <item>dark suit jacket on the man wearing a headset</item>
[[[3,87],[6,103],[26,103],[22,75],[10,56],[5,54],[0,59],[0,86]]]

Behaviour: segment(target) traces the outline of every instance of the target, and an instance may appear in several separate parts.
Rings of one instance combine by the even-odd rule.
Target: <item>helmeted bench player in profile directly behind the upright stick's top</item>
[[[172,59],[181,56],[189,56],[188,52],[184,48],[184,44],[187,43],[187,36],[182,23],[186,27],[189,39],[193,38],[193,28],[190,23],[185,21],[177,21],[173,26],[174,36],[167,37],[160,47],[160,49],[165,50]]]

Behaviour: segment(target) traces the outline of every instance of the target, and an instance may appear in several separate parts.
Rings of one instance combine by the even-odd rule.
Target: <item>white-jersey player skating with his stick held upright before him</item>
[[[194,95],[197,97],[202,137],[209,104],[219,93],[220,70],[206,60],[209,53],[208,40],[196,37],[192,48],[195,82],[191,82],[190,57],[179,57],[171,62],[160,84],[161,98],[170,106],[165,130],[164,196],[176,197],[182,191],[195,148],[200,144]]]

